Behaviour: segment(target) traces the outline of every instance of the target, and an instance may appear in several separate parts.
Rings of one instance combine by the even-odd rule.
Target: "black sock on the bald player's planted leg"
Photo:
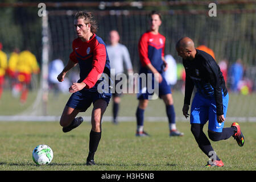
[[[201,151],[203,151],[204,154],[208,156],[208,158],[215,159],[215,156],[213,156],[214,150],[207,136],[204,134],[203,127],[204,125],[191,124],[191,132],[194,135],[196,142],[199,148],[201,149]],[[216,160],[220,160],[217,154],[216,154]]]

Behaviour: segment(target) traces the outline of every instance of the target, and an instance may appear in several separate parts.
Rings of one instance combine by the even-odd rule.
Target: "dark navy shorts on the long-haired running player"
[[[80,112],[84,112],[90,107],[90,105],[95,103],[97,100],[104,100],[109,104],[111,93],[98,93],[91,92],[89,90],[82,89],[78,92],[75,92],[69,98],[66,106],[73,109],[79,109]]]

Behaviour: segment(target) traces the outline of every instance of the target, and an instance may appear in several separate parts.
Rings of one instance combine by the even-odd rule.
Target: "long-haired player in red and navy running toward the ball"
[[[91,13],[79,11],[74,20],[75,31],[78,38],[73,40],[72,53],[69,56],[68,64],[57,77],[61,82],[67,72],[75,67],[80,67],[80,80],[73,83],[69,88],[72,93],[63,114],[60,118],[60,125],[66,133],[79,126],[83,119],[76,117],[79,112],[84,112],[93,104],[92,130],[89,139],[89,154],[86,165],[94,165],[94,153],[97,150],[101,139],[101,119],[111,98],[110,88],[98,86],[102,81],[110,79],[110,64],[106,46],[103,40],[96,33],[96,22]],[[102,79],[101,77],[105,75]],[[105,92],[101,92],[102,90]]]

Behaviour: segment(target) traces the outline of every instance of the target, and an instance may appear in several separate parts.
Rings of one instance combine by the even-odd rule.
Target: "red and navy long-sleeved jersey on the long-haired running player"
[[[93,37],[82,42],[80,38],[73,40],[73,51],[69,55],[75,63],[79,63],[80,79],[77,82],[85,82],[86,89],[95,90],[101,80],[102,73],[110,78],[109,56],[104,41],[93,34]]]

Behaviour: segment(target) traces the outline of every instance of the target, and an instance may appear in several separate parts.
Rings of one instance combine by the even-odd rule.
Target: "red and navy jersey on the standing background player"
[[[151,63],[158,72],[163,72],[162,56],[164,56],[165,44],[166,38],[159,33],[152,34],[148,31],[141,36],[138,47],[142,69],[146,68],[148,63]]]

